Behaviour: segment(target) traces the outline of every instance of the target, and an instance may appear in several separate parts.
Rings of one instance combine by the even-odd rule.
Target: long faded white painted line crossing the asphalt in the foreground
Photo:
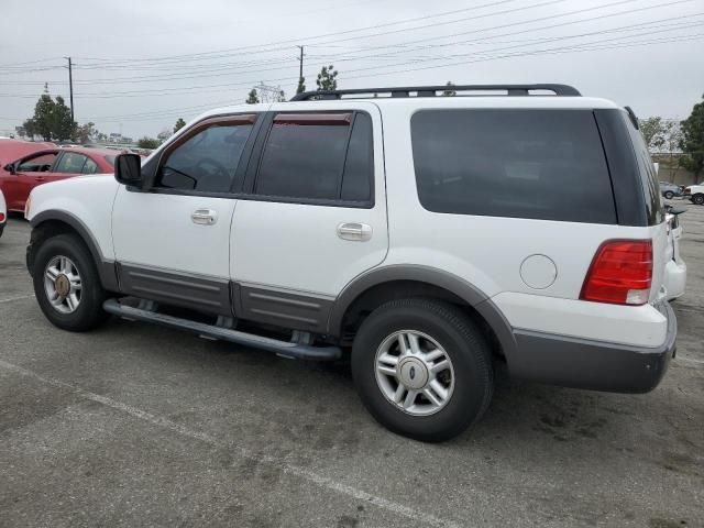
[[[95,394],[88,391],[84,391],[82,388],[76,387],[69,383],[61,382],[58,380],[52,380],[48,377],[44,377],[35,372],[29,371],[18,365],[13,365],[12,363],[8,363],[6,361],[0,360],[0,369],[6,371],[14,372],[21,374],[23,376],[32,377],[36,381],[45,383],[47,385],[53,385],[59,388],[68,388],[73,391],[75,394],[78,394],[85,399],[89,399],[91,402],[97,402],[112,409],[120,410],[130,416],[139,418],[144,421],[148,421],[155,426],[162,427],[164,429],[168,429],[170,431],[183,435],[184,437],[190,437],[196,440],[200,440],[202,442],[209,443],[211,446],[218,448],[224,448],[237,451],[240,457],[249,460],[253,460],[260,463],[265,463],[270,465],[274,465],[284,473],[289,475],[294,475],[299,479],[304,479],[308,482],[311,482],[320,487],[328,488],[330,491],[337,492],[341,495],[346,495],[349,497],[355,498],[358,501],[364,501],[366,503],[373,504],[382,509],[386,509],[393,514],[400,515],[407,517],[413,520],[419,520],[421,522],[426,522],[429,526],[439,526],[439,527],[449,527],[449,528],[459,528],[460,525],[457,522],[441,519],[431,514],[426,514],[424,512],[418,512],[417,509],[409,508],[402,504],[395,503],[384,497],[380,497],[377,495],[372,495],[371,493],[364,492],[362,490],[358,490],[356,487],[349,486],[341,482],[336,481],[334,479],[330,479],[328,476],[319,475],[312,471],[290,465],[286,463],[284,460],[279,460],[275,457],[270,455],[258,455],[252,453],[249,449],[243,448],[241,446],[233,444],[231,442],[226,442],[219,440],[215,437],[206,432],[195,431],[188,429],[185,426],[176,424],[175,421],[169,420],[168,418],[164,418],[163,416],[152,415],[145,410],[139,409],[136,407],[132,407],[131,405],[123,404],[121,402],[117,402],[107,396],[101,396],[99,394]]]

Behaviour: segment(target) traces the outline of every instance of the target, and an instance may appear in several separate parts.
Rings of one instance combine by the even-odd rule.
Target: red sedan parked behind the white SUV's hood
[[[8,211],[24,211],[24,204],[37,185],[81,174],[112,174],[118,154],[120,151],[108,148],[54,147],[15,158],[0,170],[0,190]]]

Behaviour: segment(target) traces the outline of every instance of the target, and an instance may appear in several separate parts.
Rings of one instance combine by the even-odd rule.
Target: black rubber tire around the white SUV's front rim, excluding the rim
[[[58,255],[67,256],[74,262],[81,279],[80,302],[70,314],[62,314],[54,308],[44,287],[46,265]],[[108,318],[108,314],[102,309],[107,293],[100,285],[100,277],[90,252],[76,235],[59,234],[42,242],[34,257],[32,280],[40,308],[55,327],[72,332],[85,332]]]

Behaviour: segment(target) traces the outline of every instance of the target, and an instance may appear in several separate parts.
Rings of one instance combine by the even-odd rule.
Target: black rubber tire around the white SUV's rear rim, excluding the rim
[[[440,344],[454,370],[454,391],[436,414],[411,416],[392,404],[376,382],[376,351],[399,330],[417,330]],[[352,346],[352,376],[367,410],[384,427],[416,440],[449,440],[473,426],[492,399],[492,353],[482,332],[457,307],[435,300],[387,302],[362,323]]]

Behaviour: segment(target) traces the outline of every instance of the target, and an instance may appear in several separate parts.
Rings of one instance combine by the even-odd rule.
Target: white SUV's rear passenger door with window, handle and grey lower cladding
[[[386,256],[381,114],[337,107],[272,107],[232,223],[245,319],[322,331],[334,297]]]

